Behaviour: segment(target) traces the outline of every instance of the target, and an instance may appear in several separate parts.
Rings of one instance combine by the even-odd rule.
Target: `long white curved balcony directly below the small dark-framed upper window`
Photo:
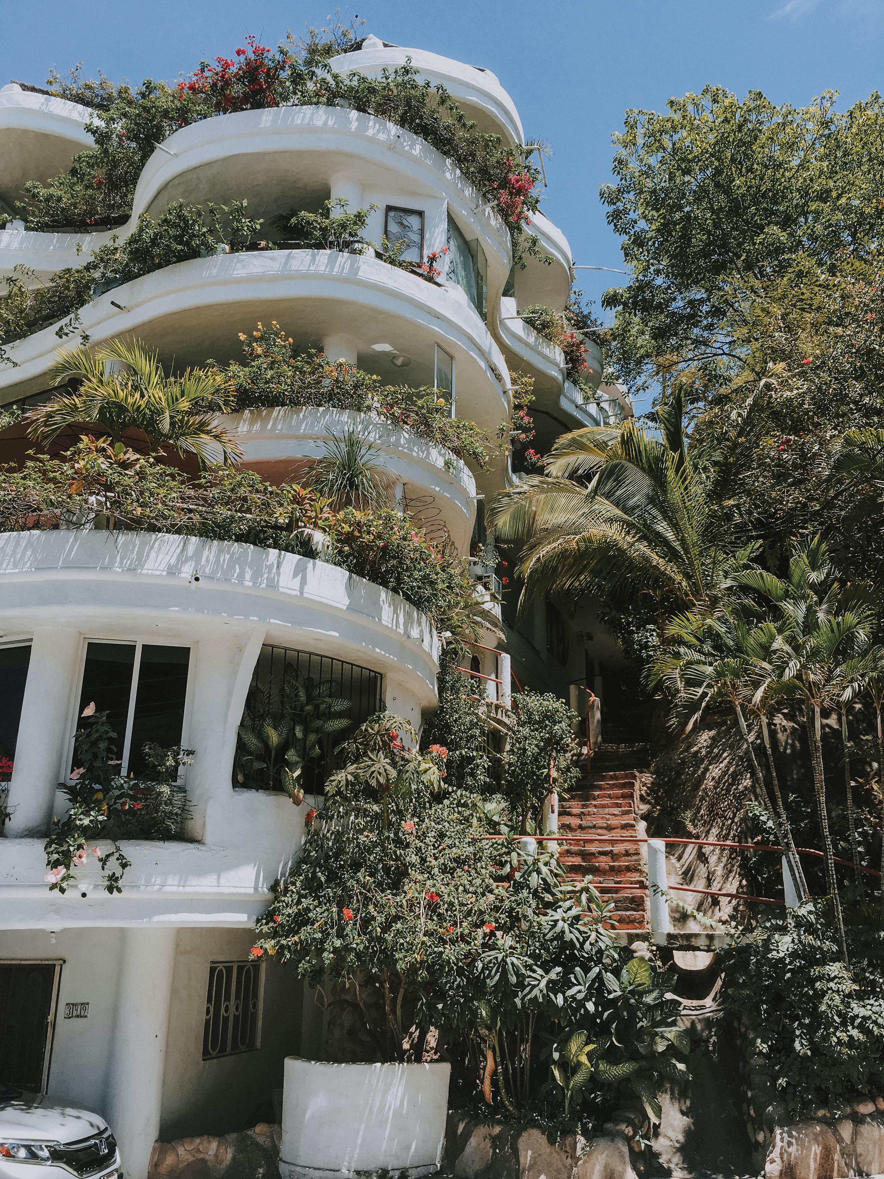
[[[343,330],[359,368],[387,383],[407,376],[433,386],[438,345],[455,360],[459,415],[492,436],[507,416],[503,355],[466,295],[376,258],[324,250],[194,258],[99,296],[83,309],[80,330],[94,344],[138,337],[164,363],[184,367],[239,358],[238,334],[264,320],[277,320],[303,349],[339,341]],[[390,351],[374,350],[377,343]],[[0,371],[0,404],[46,389],[60,347],[53,327],[8,345],[18,367]],[[410,357],[407,370],[391,365],[394,349]]]

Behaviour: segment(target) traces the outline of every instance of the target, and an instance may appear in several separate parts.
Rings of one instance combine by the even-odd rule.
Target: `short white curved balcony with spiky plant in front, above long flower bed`
[[[424,525],[428,535],[449,536],[466,553],[476,514],[476,483],[467,465],[410,430],[344,409],[250,409],[220,419],[243,448],[243,466],[272,483],[303,477],[326,453],[329,440],[355,430],[375,452],[390,487]]]

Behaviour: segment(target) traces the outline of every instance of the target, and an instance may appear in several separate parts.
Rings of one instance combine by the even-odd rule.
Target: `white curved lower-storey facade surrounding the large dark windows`
[[[193,536],[6,533],[0,587],[4,641],[33,638],[13,808],[17,789],[45,792],[70,768],[84,635],[191,652],[184,743],[197,751],[187,793],[199,842],[124,841],[133,864],[123,896],[100,891],[95,867],[78,872],[77,889],[59,896],[42,878],[44,839],[7,835],[0,839],[0,897],[15,897],[13,924],[22,928],[248,926],[266,907],[272,881],[301,843],[309,802],[293,806],[285,795],[230,785],[237,725],[264,644],[382,673],[388,704],[417,722],[421,709],[437,700],[438,639],[425,617],[321,561]],[[6,889],[4,881],[15,884]]]

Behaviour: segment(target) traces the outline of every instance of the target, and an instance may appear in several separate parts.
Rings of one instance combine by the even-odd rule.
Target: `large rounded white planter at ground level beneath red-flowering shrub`
[[[330,1065],[285,1058],[283,1179],[438,1171],[450,1065]]]

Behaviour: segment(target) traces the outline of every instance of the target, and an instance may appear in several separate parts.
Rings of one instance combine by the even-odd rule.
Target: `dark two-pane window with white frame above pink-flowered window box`
[[[189,670],[190,647],[90,641],[74,731],[83,710],[94,702],[117,733],[120,772],[138,777],[145,742],[164,749],[182,743]]]

